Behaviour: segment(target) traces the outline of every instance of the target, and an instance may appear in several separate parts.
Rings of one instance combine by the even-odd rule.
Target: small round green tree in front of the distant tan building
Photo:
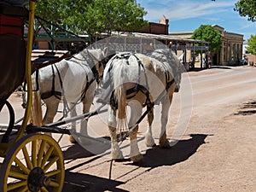
[[[215,52],[221,49],[222,38],[220,32],[210,25],[201,25],[193,32],[193,39],[209,42],[209,50]]]

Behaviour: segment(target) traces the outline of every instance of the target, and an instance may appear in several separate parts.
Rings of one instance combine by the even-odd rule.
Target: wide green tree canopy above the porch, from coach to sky
[[[131,32],[148,25],[136,0],[40,0],[36,14],[76,33]]]

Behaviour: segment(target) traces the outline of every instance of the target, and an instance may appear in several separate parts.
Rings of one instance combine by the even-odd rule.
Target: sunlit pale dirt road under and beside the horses
[[[143,120],[141,165],[127,160],[111,166],[108,148],[102,148],[105,156],[91,154],[62,137],[63,191],[255,191],[255,86],[255,67],[212,67],[184,73],[167,127],[167,137],[176,144],[170,149],[146,148],[142,138],[147,122]],[[155,110],[158,143],[159,108]],[[90,119],[91,129],[100,127],[108,136],[105,124],[106,114]]]

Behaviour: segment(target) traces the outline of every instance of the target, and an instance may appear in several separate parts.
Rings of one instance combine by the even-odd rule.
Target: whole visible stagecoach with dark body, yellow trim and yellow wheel
[[[0,127],[0,191],[56,191],[64,183],[61,148],[52,137],[26,131],[32,104],[32,38],[36,1],[0,1],[0,112],[9,109],[9,126]],[[27,41],[23,38],[28,20]],[[9,96],[26,81],[27,102],[22,124],[14,127]]]

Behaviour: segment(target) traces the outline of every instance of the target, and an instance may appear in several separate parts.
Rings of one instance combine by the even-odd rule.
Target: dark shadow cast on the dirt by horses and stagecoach
[[[160,148],[159,146],[150,148],[146,151],[146,154],[144,154],[144,160],[140,164],[132,164],[131,161],[116,162],[116,163],[137,166],[137,168],[135,167],[136,170],[139,167],[149,167],[149,169],[147,169],[146,172],[149,172],[158,166],[172,166],[172,165],[182,162],[184,160],[188,160],[189,157],[192,156],[193,154],[195,154],[197,149],[202,144],[205,143],[205,139],[207,136],[209,136],[209,135],[191,134],[190,135],[191,138],[189,138],[187,140],[180,140],[176,145],[172,146],[172,148]],[[77,149],[78,149],[78,147],[77,147]],[[79,153],[83,154],[84,152],[80,151]],[[64,156],[65,155],[67,155],[67,154],[64,154]],[[81,156],[80,154],[76,154],[76,155],[77,155],[77,157]],[[90,155],[90,154],[88,154],[88,155]],[[93,158],[92,160],[89,160],[89,161],[91,162],[98,158],[100,158],[100,157],[96,156],[95,158]],[[87,163],[89,161],[87,161]],[[71,190],[76,191],[76,192],[82,192],[82,191],[102,192],[102,191],[106,191],[106,190],[125,192],[126,190],[118,189],[117,186],[119,186],[120,184],[126,183],[135,177],[141,176],[144,173],[144,172],[140,172],[138,175],[131,177],[131,179],[129,179],[125,182],[119,182],[118,181],[119,178],[129,174],[129,172],[132,172],[132,171],[130,170],[129,172],[124,172],[123,175],[119,176],[115,180],[103,178],[103,177],[96,177],[96,176],[88,175],[88,174],[71,172],[74,168],[79,168],[79,166],[84,166],[84,164],[86,164],[86,162],[83,162],[81,165],[77,165],[77,166],[74,166],[74,167],[66,170],[65,184],[64,184],[64,190],[63,190],[64,192],[71,191]]]

